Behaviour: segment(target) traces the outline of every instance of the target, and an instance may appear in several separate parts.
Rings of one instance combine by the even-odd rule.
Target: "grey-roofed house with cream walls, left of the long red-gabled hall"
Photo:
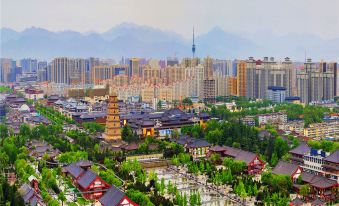
[[[211,144],[204,139],[196,139],[187,135],[182,135],[178,139],[172,138],[171,141],[182,145],[186,152],[194,158],[206,157],[211,146]]]

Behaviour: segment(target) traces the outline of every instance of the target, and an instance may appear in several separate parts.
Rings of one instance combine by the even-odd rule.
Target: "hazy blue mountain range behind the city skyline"
[[[1,28],[1,57],[14,59],[33,57],[50,60],[58,56],[161,58],[190,57],[192,40],[172,32],[133,23],[122,23],[98,33],[75,31],[52,32],[28,28],[21,32]],[[288,34],[277,36],[270,32],[242,36],[214,27],[195,39],[196,56],[220,59],[262,58],[274,56],[303,61],[305,55],[315,60],[339,60],[339,37],[324,40],[314,35]],[[306,53],[306,54],[305,54]]]

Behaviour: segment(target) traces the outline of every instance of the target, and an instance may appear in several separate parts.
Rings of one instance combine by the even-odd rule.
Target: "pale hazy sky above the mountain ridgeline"
[[[1,0],[1,27],[104,32],[133,22],[190,37],[215,26],[250,36],[339,38],[339,0]]]

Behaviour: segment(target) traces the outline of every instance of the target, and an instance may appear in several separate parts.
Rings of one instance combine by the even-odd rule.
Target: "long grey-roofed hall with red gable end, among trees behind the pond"
[[[265,167],[265,162],[260,157],[253,153],[245,150],[237,149],[228,146],[214,146],[209,149],[210,154],[217,153],[221,157],[230,157],[234,160],[243,161],[247,165],[246,172],[248,174],[259,174]]]

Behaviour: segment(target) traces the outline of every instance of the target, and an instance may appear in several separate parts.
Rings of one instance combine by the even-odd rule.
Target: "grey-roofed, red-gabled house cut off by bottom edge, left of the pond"
[[[96,206],[137,206],[125,193],[114,185],[99,199]]]

